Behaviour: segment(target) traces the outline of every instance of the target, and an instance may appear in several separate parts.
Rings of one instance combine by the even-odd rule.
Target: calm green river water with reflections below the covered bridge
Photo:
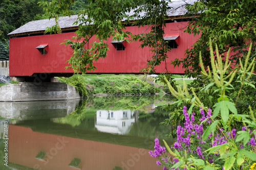
[[[0,169],[162,169],[148,151],[156,135],[173,142],[170,127],[159,125],[169,102],[166,95],[2,102]]]

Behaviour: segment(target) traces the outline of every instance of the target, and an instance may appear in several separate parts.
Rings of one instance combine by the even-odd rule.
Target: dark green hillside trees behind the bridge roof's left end
[[[38,2],[39,0],[0,0],[0,60],[9,60],[8,33],[29,21],[47,18]],[[86,1],[76,0],[71,7],[72,14],[77,14],[85,4]]]

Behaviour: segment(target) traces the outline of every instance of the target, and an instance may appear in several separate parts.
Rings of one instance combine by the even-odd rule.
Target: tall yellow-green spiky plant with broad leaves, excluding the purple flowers
[[[253,70],[255,66],[255,58],[253,58],[251,61],[249,60],[252,44],[249,46],[247,56],[243,59],[239,59],[240,65],[229,69],[230,62],[228,61],[230,50],[228,50],[228,53],[223,60],[222,56],[220,56],[218,53],[217,45],[216,52],[214,53],[211,43],[212,42],[210,40],[209,49],[211,67],[208,66],[207,71],[204,67],[202,56],[201,54],[199,55],[201,74],[205,76],[204,79],[208,79],[208,81],[204,81],[205,86],[201,90],[197,91],[196,93],[196,90],[191,88],[193,95],[189,95],[185,84],[183,85],[183,89],[178,87],[177,92],[172,86],[170,86],[167,80],[166,82],[168,83],[172,94],[176,96],[177,99],[179,99],[177,103],[188,103],[190,105],[190,111],[191,107],[194,106],[202,107],[204,110],[207,110],[207,107],[203,105],[207,99],[200,98],[199,94],[211,92],[211,88],[215,87],[213,93],[217,93],[218,98],[212,99],[213,111],[210,111],[212,116],[208,118],[208,120],[211,120],[211,123],[204,130],[202,141],[207,140],[206,143],[208,143],[209,140],[211,140],[214,142],[215,136],[221,135],[224,137],[226,142],[224,144],[217,144],[215,147],[211,147],[209,145],[207,148],[204,148],[204,152],[206,152],[207,155],[217,154],[218,159],[216,158],[213,160],[214,163],[212,164],[209,164],[206,160],[198,160],[192,156],[186,155],[186,151],[184,156],[183,153],[176,151],[176,158],[178,158],[180,161],[174,164],[173,167],[190,168],[193,166],[198,169],[213,169],[216,166],[223,166],[224,169],[248,169],[249,166],[256,160],[256,148],[255,144],[253,143],[253,141],[255,142],[256,134],[256,114],[255,109],[252,109],[251,106],[247,107],[247,112],[249,112],[249,115],[245,115],[244,112],[238,112],[238,103],[239,98],[241,98],[240,94],[242,91],[244,91],[244,93],[251,92],[247,91],[247,87],[255,89],[253,84],[254,82],[252,82],[253,78],[251,79],[251,77],[254,76]],[[237,80],[235,78],[237,78]],[[236,82],[234,82],[234,80],[236,80]],[[235,89],[232,85],[236,83],[240,84],[239,89]],[[236,96],[234,96],[233,90],[236,90]],[[253,91],[253,93],[255,93],[255,91]],[[243,97],[244,96],[245,95],[243,95]],[[245,101],[248,101],[248,99]],[[204,120],[201,124],[204,124],[206,121],[207,119]],[[232,128],[237,127],[237,123],[244,125],[244,129],[237,132],[238,136],[234,134],[236,133],[236,130],[232,130]],[[221,134],[219,134],[217,130],[220,131]],[[231,137],[229,137],[229,134]],[[236,136],[236,138],[234,136]],[[251,145],[248,145],[248,142]],[[241,148],[241,144],[244,148]],[[198,144],[194,145],[193,142],[190,145],[190,148],[193,147],[198,147]]]

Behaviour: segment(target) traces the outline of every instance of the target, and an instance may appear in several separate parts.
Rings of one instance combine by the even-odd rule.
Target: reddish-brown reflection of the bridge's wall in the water
[[[86,134],[84,135],[86,136]],[[150,144],[152,148],[154,146],[150,140],[144,140],[142,144]],[[148,151],[147,149],[34,132],[27,127],[14,125],[9,127],[9,162],[31,168],[47,170],[112,170],[115,167],[117,169],[118,167],[119,169],[161,169],[150,157]],[[74,160],[77,160],[78,163],[74,163]]]

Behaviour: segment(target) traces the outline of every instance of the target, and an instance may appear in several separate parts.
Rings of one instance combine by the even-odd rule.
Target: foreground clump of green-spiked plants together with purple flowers
[[[207,91],[210,87],[216,87],[215,93],[219,98],[213,103],[212,110],[204,106],[204,101],[198,98],[198,93],[191,88],[189,94],[187,86],[183,84],[175,90],[166,80],[170,92],[179,99],[178,103],[190,105],[188,111],[186,106],[183,108],[185,117],[184,126],[177,127],[177,141],[169,147],[164,141],[166,152],[159,153],[159,142],[155,142],[155,151],[150,152],[152,156],[158,158],[157,164],[162,165],[163,169],[254,169],[256,161],[255,134],[256,120],[255,113],[248,106],[250,115],[238,113],[237,104],[240,94],[246,86],[255,89],[250,81],[255,66],[255,58],[249,62],[251,45],[246,57],[240,59],[240,65],[231,67],[229,62],[229,51],[223,60],[219,55],[216,44],[216,52],[209,41],[210,64],[204,67],[201,54],[200,66],[201,74],[210,81],[200,90]],[[215,57],[216,56],[216,57]],[[215,59],[216,58],[216,59]],[[205,69],[206,68],[206,69]],[[237,80],[234,80],[237,78]],[[233,100],[229,96],[229,90],[233,90],[233,83],[240,83],[240,89]],[[255,99],[253,99],[255,100]],[[195,120],[193,108],[199,107],[201,118]],[[206,116],[204,111],[207,113]],[[235,129],[234,121],[242,122],[242,129]],[[157,139],[156,139],[157,141]],[[165,151],[165,148],[162,150]]]

